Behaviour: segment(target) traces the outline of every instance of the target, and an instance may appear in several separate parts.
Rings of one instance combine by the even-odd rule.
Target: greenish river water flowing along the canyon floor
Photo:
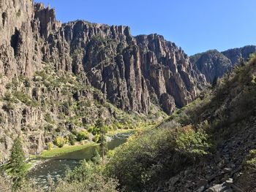
[[[111,137],[110,142],[108,142],[108,149],[113,150],[115,147],[124,144],[124,142],[127,142],[127,138],[133,133],[134,131],[129,131],[114,135]],[[65,153],[64,155],[46,160],[38,160],[39,164],[31,169],[28,176],[39,185],[46,185],[48,183],[48,177],[51,177],[53,180],[56,180],[58,177],[63,178],[67,169],[74,169],[81,160],[90,160],[95,150],[99,151],[99,145],[89,146],[83,150]]]

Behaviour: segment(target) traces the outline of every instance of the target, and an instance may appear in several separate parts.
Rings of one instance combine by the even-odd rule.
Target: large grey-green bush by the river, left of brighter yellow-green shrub
[[[127,191],[139,191],[154,178],[176,172],[178,166],[172,166],[174,140],[170,128],[145,131],[130,137],[129,142],[116,148],[106,172],[116,177]],[[174,169],[168,169],[170,166]]]

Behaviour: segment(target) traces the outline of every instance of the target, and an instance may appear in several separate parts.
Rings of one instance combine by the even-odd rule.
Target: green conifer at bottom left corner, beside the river
[[[22,148],[20,137],[17,137],[12,145],[10,160],[7,163],[7,170],[10,172],[13,180],[12,189],[17,191],[23,184],[26,177],[25,153]]]

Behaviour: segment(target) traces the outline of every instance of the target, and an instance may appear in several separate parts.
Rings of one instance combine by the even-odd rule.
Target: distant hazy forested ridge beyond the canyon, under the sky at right
[[[248,45],[219,52],[208,50],[205,53],[198,53],[190,57],[190,61],[197,69],[206,76],[207,82],[214,82],[214,79],[222,77],[225,72],[230,72],[233,66],[249,58],[251,53],[256,52],[256,46]]]

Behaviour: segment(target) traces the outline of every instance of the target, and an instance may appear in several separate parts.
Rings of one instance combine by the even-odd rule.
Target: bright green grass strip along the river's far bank
[[[86,143],[85,145],[65,145],[64,147],[56,147],[52,150],[44,150],[42,151],[41,155],[39,155],[39,158],[53,158],[59,155],[62,155],[64,153],[70,153],[76,150],[82,150],[86,147],[91,147],[94,145],[98,145],[95,142]]]

